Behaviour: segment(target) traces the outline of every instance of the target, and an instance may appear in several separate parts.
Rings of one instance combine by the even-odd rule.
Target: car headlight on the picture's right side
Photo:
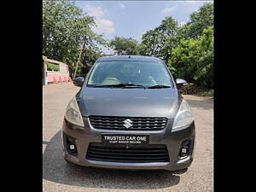
[[[193,120],[191,108],[189,107],[188,102],[183,99],[177,110],[177,114],[172,125],[172,131],[182,130],[183,128],[188,127]]]

